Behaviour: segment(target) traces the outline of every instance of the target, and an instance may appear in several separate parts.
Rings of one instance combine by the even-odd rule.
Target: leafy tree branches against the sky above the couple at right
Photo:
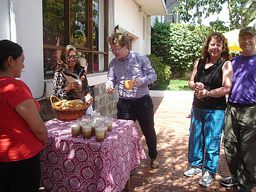
[[[256,1],[255,0],[177,0],[180,4],[174,8],[174,13],[181,16],[181,20],[195,24],[195,20],[201,27],[202,16],[205,18],[213,13],[220,13],[222,11],[222,4],[228,3],[228,11],[230,15],[230,30],[234,28],[242,28],[247,26],[249,22],[256,19]],[[193,13],[195,11],[195,13]],[[212,22],[212,28],[224,26],[221,20]],[[221,30],[224,30],[221,26]],[[220,29],[220,28],[218,28]],[[204,34],[203,34],[204,35]]]

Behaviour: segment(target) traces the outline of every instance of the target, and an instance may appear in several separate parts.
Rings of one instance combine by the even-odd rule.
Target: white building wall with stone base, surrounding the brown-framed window
[[[127,30],[133,40],[133,51],[144,55],[150,53],[150,32],[146,30],[143,40],[143,16],[146,18],[146,26],[150,16],[144,11],[139,12],[138,5],[133,0],[110,0],[110,14],[113,19],[109,22],[109,34],[113,27],[119,24]],[[49,96],[53,94],[53,80],[44,80],[43,65],[43,30],[42,30],[42,1],[26,0],[1,0],[0,1],[0,40],[9,39],[22,46],[24,49],[24,72],[20,80],[23,80],[34,98],[40,98],[42,110],[40,114],[44,120],[55,117],[51,110]],[[149,20],[148,20],[149,19]],[[109,61],[113,59],[110,52]],[[94,110],[102,112],[103,115],[115,115],[118,100],[117,88],[113,95],[106,94],[105,82],[107,72],[88,75],[88,82],[93,90]]]

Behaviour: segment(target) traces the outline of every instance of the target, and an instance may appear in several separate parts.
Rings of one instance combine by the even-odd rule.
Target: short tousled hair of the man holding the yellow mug
[[[129,38],[124,32],[115,32],[107,39],[110,45],[126,46],[129,49]]]

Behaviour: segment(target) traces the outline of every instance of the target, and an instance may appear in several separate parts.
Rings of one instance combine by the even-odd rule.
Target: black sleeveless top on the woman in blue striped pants
[[[194,81],[203,82],[205,89],[208,91],[220,88],[222,86],[223,64],[223,61],[218,59],[214,65],[205,69],[205,63],[200,59],[197,65],[197,74],[195,75]],[[220,98],[206,97],[203,99],[197,99],[194,94],[193,107],[211,110],[225,110],[226,96],[222,96]]]

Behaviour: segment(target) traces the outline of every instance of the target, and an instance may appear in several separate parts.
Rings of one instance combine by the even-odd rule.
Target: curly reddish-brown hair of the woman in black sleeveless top
[[[210,61],[210,54],[208,53],[208,46],[210,41],[214,38],[218,42],[222,42],[222,52],[220,55],[220,59],[222,59],[223,62],[230,60],[230,49],[228,49],[228,40],[224,37],[223,34],[219,32],[213,32],[210,34],[207,38],[207,41],[205,42],[205,45],[201,51],[201,56],[203,58],[203,61],[209,62]]]

